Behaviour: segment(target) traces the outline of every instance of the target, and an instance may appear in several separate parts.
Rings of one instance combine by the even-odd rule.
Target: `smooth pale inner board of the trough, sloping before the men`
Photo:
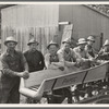
[[[74,68],[71,68],[71,69],[65,68],[64,71],[56,69],[56,70],[43,70],[43,71],[38,71],[38,72],[33,72],[29,74],[29,78],[24,81],[25,82],[24,84],[26,87],[39,85],[46,78],[63,75],[63,74],[66,74],[70,72],[75,72],[77,70],[78,70],[77,68],[75,68],[75,69]]]

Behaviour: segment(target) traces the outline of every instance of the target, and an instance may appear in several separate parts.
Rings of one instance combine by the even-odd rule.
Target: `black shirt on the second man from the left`
[[[27,50],[26,52],[24,52],[24,56],[25,56],[26,61],[28,63],[28,71],[29,72],[39,71],[39,70],[43,70],[45,68],[44,56],[40,51]]]

